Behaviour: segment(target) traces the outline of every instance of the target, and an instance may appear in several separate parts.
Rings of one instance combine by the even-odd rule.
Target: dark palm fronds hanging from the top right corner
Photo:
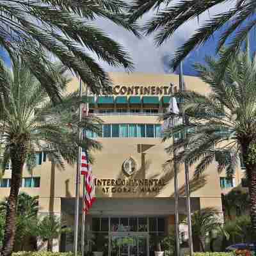
[[[149,35],[157,31],[155,41],[157,45],[161,45],[189,20],[197,17],[199,22],[202,13],[210,12],[211,8],[226,3],[226,0],[182,0],[177,3],[173,3],[172,0],[133,0],[130,8],[131,20],[137,20],[148,11],[154,10],[154,16],[145,24],[145,33]],[[229,45],[228,51],[223,55],[223,61],[236,56],[246,36],[256,26],[255,8],[254,0],[230,1],[225,12],[219,8],[218,13],[214,13],[207,21],[202,22],[195,33],[177,49],[173,67],[176,68],[189,52],[203,45],[216,31],[221,31],[218,51],[226,43]]]

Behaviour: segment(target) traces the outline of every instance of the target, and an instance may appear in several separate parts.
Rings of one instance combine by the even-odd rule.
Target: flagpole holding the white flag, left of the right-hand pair
[[[171,84],[171,92],[173,93],[173,84]],[[171,95],[171,100],[172,100],[172,112],[173,112],[173,98]],[[175,116],[172,118],[172,127],[175,126]],[[174,136],[172,132],[172,138],[173,138],[173,144],[174,144]],[[177,256],[180,255],[180,230],[179,230],[179,193],[178,193],[178,173],[177,173],[177,163],[176,163],[176,149],[173,148],[173,169],[174,169],[174,212],[175,212],[175,235],[176,235],[176,254]]]

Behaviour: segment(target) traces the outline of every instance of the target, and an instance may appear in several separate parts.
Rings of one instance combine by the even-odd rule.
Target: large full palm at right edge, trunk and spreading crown
[[[225,55],[225,51],[221,52]],[[205,58],[206,65],[195,66],[200,78],[211,88],[211,94],[202,95],[186,91],[176,93],[184,99],[184,109],[189,122],[164,131],[164,140],[172,132],[186,132],[187,136],[167,151],[177,148],[177,161],[195,164],[195,177],[218,156],[218,170],[234,175],[243,156],[250,194],[250,216],[256,235],[256,58],[247,52],[237,54],[230,60],[223,73],[220,60]],[[188,130],[189,129],[189,130]],[[185,146],[185,149],[184,149]]]

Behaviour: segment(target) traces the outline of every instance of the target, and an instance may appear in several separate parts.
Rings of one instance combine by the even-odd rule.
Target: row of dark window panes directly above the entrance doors
[[[164,218],[92,218],[93,232],[164,232]]]

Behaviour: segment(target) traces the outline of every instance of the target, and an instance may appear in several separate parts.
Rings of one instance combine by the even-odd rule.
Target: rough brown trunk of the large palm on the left
[[[22,177],[22,168],[26,158],[26,147],[24,147],[24,144],[19,143],[13,145],[13,147],[10,148],[10,157],[12,160],[12,180],[6,211],[4,243],[1,253],[3,256],[12,255],[13,244],[15,241],[17,199]]]

